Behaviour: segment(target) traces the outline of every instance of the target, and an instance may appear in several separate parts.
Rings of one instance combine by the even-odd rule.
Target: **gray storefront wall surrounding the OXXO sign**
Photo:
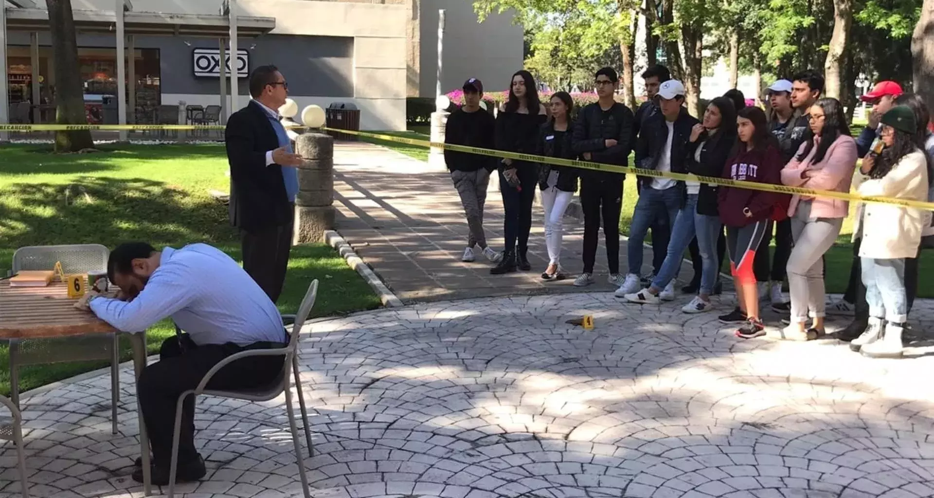
[[[191,43],[191,47],[185,45]],[[10,45],[29,45],[29,34],[10,32]],[[50,45],[48,33],[40,45]],[[162,92],[218,94],[218,78],[196,78],[191,52],[217,49],[214,38],[186,36],[136,36],[135,48],[159,49]],[[289,81],[289,92],[303,96],[353,97],[353,38],[343,36],[265,35],[241,38],[239,49],[248,49],[249,68],[276,64]],[[255,45],[255,47],[253,47]],[[114,36],[78,35],[78,47],[116,47]],[[250,49],[250,47],[253,47]],[[248,92],[248,78],[240,78],[240,94]]]

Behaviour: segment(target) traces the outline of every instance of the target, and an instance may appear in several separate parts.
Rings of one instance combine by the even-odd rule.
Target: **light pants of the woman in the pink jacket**
[[[833,246],[843,226],[842,218],[811,219],[811,201],[801,201],[791,218],[795,246],[785,267],[791,294],[791,322],[804,323],[826,313],[824,264],[821,257]],[[809,313],[810,310],[810,313]]]

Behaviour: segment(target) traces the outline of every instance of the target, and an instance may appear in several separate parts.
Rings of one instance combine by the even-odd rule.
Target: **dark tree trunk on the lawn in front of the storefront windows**
[[[52,62],[55,64],[55,122],[87,124],[71,0],[46,0],[46,7],[49,9]],[[92,147],[94,142],[89,130],[55,133],[56,152],[74,152]]]

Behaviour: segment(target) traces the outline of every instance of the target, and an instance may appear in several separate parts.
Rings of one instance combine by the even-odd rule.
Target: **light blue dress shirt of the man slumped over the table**
[[[171,317],[197,345],[288,342],[276,305],[230,256],[206,244],[165,248],[146,287],[127,303],[94,298],[91,309],[123,332]]]

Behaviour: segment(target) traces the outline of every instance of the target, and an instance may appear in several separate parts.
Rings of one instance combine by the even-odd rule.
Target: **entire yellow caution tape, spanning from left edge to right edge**
[[[120,131],[120,130],[139,130],[139,131],[185,131],[185,130],[223,130],[226,127],[219,124],[0,124],[0,132],[60,132],[60,131]],[[307,126],[288,126],[290,129],[306,129]],[[617,166],[614,164],[590,163],[587,161],[576,161],[571,159],[560,159],[556,157],[538,156],[533,154],[520,154],[517,152],[507,152],[505,150],[481,149],[479,147],[468,147],[461,145],[446,144],[443,142],[432,142],[430,140],[420,140],[416,138],[405,138],[402,136],[380,135],[368,132],[358,132],[354,130],[342,130],[338,128],[321,127],[320,130],[343,133],[347,135],[357,135],[377,140],[385,140],[407,145],[413,145],[424,148],[436,148],[454,150],[457,152],[469,152],[473,154],[491,156],[501,159],[513,159],[517,161],[526,161],[530,163],[553,164],[556,166],[569,166],[581,169],[590,169],[594,171],[605,171],[610,173],[623,173],[637,175],[641,177],[653,178],[671,178],[680,181],[700,181],[709,185],[719,185],[721,187],[734,187],[739,189],[750,189],[762,192],[778,192],[798,194],[807,197],[829,197],[833,199],[842,199],[851,202],[865,202],[875,204],[888,204],[904,207],[917,207],[921,209],[934,210],[934,203],[924,201],[914,201],[909,199],[896,199],[894,197],[875,197],[863,196],[849,192],[818,191],[814,189],[804,189],[801,187],[788,187],[786,185],[774,185],[771,183],[758,183],[755,181],[735,180],[719,177],[701,177],[686,173],[671,173],[656,171],[653,169],[643,169],[632,166]]]

